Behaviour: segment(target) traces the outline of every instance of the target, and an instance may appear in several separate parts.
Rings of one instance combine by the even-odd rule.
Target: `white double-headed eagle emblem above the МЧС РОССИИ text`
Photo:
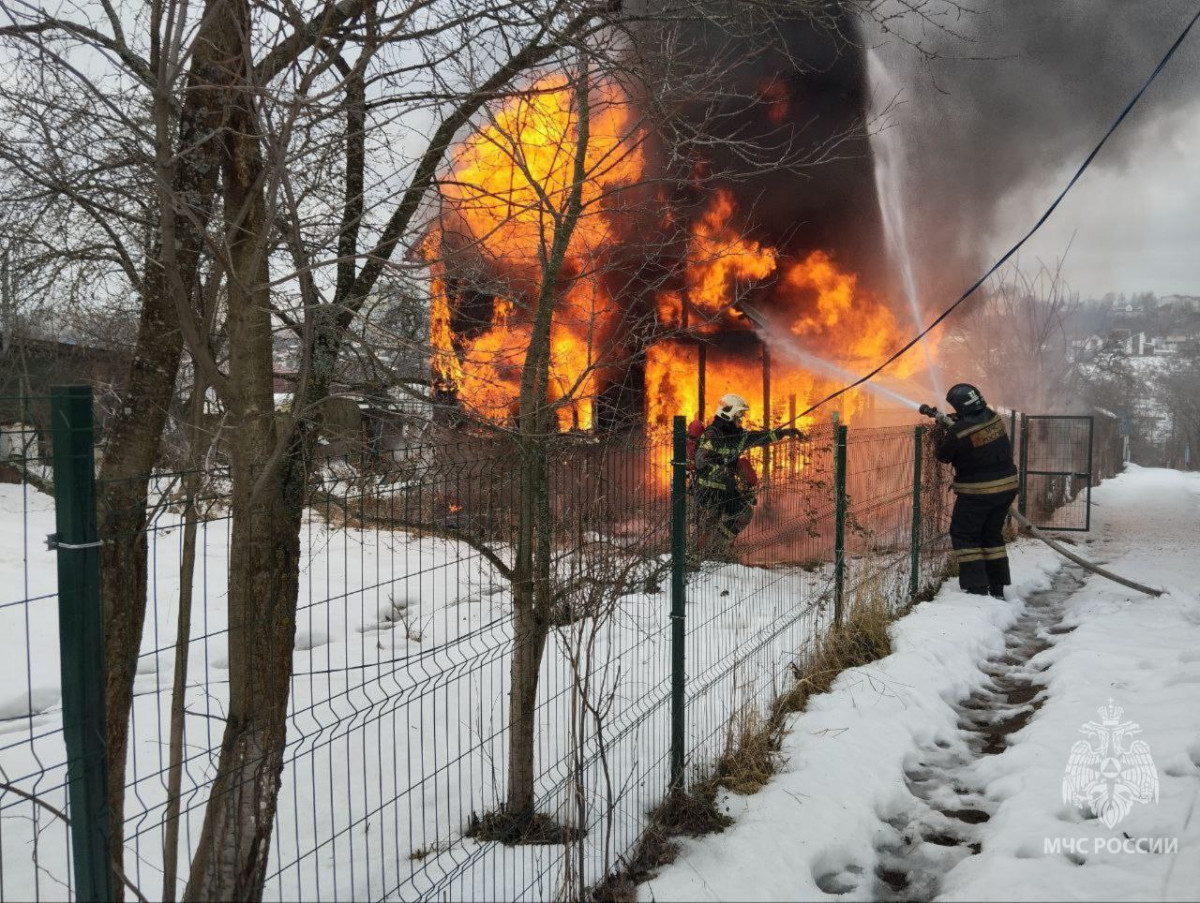
[[[1092,812],[1112,830],[1134,803],[1158,802],[1158,770],[1135,722],[1122,720],[1124,710],[1111,699],[1097,710],[1099,722],[1080,728],[1088,740],[1076,740],[1062,777],[1062,801]]]

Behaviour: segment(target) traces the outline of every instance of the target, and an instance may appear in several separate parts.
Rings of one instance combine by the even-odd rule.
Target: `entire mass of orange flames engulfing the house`
[[[778,90],[768,88],[776,102],[772,110],[786,108],[786,96],[774,97]],[[467,411],[492,421],[515,414],[545,262],[572,187],[577,100],[563,78],[536,83],[458,148],[442,184],[443,213],[426,244],[433,262],[434,373]],[[832,250],[797,251],[754,238],[727,191],[710,196],[683,227],[682,243],[665,255],[667,263],[659,262],[674,275],[644,289],[653,292],[655,322],[628,316],[632,299],[612,297],[604,274],[631,243],[642,241],[647,255],[661,252],[629,228],[619,203],[623,191],[648,178],[644,136],[634,104],[616,84],[596,85],[588,106],[582,213],[552,292],[548,401],[557,405],[560,429],[593,427],[605,373],[620,365],[617,347],[629,353],[631,342],[622,333],[635,322],[641,335],[632,345],[644,351],[649,431],[665,429],[674,414],[709,413],[701,411],[702,354],[707,405],[737,391],[760,423],[782,423],[835,388],[828,375],[802,366],[794,355],[773,355],[770,409],[764,409],[767,352],[755,335],[763,313],[773,330],[790,335],[805,353],[854,372],[901,343],[892,311],[839,267]],[[664,232],[673,227],[668,203],[660,202],[658,216]],[[448,263],[454,259],[448,249],[460,256],[466,249],[470,267]],[[484,318],[456,330],[463,283],[491,301]],[[851,394],[844,412],[853,414],[860,405]]]

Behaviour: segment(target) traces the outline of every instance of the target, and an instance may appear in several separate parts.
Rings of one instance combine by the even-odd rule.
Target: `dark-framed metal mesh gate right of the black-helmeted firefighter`
[[[1016,503],[1038,527],[1091,528],[1094,433],[1092,417],[1021,414]]]

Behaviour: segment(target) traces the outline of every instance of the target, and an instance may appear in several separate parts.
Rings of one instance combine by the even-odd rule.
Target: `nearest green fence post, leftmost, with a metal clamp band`
[[[113,899],[91,388],[50,389],[62,736],[76,899]]]

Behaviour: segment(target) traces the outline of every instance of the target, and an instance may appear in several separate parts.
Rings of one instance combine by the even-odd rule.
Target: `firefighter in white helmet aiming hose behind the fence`
[[[743,462],[742,455],[751,448],[803,435],[792,427],[743,429],[742,418],[749,409],[740,395],[722,395],[713,423],[696,445],[696,551],[701,558],[732,561],[733,540],[754,518],[754,489],[745,473],[749,461]]]

